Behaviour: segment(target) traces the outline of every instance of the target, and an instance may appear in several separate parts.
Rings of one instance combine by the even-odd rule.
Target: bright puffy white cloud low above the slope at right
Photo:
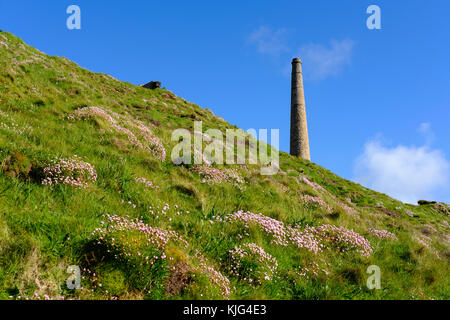
[[[425,129],[429,131],[429,125]],[[427,145],[390,148],[374,140],[365,145],[364,153],[356,160],[355,180],[403,202],[448,201],[449,169],[450,164],[440,150]]]

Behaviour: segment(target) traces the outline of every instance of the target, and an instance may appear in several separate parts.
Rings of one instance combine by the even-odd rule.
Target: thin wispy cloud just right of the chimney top
[[[298,50],[303,62],[303,74],[313,80],[323,80],[339,74],[351,63],[355,42],[350,39],[332,40],[330,45],[307,44]]]

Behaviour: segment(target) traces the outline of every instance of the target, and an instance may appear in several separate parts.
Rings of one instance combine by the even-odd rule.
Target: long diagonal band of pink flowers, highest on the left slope
[[[86,120],[88,118],[99,117],[103,120],[106,120],[106,122],[108,122],[116,132],[127,136],[128,141],[133,146],[139,149],[147,150],[161,161],[164,161],[166,159],[166,150],[164,149],[161,141],[157,137],[153,136],[152,131],[147,128],[142,122],[137,120],[130,120],[117,113],[111,112],[111,114],[114,115],[114,117],[101,108],[85,107],[75,110],[75,112],[69,115],[67,119]],[[121,124],[119,124],[119,121],[117,119],[121,120]],[[133,133],[130,129],[124,127],[123,125],[127,125],[128,127],[133,128],[137,132],[137,135],[140,135],[142,137],[142,141],[135,133]]]

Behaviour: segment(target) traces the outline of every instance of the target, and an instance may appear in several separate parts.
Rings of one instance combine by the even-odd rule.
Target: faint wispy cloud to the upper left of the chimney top
[[[285,35],[285,29],[272,30],[261,26],[248,36],[247,42],[255,45],[259,53],[277,56],[289,51]]]

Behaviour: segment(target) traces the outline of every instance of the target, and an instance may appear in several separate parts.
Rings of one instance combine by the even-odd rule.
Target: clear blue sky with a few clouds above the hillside
[[[431,5],[431,4],[432,5]],[[66,8],[81,8],[81,30]],[[381,8],[381,30],[366,9]],[[134,84],[160,80],[289,150],[303,59],[313,162],[404,201],[450,202],[450,2],[6,1],[0,28]]]

